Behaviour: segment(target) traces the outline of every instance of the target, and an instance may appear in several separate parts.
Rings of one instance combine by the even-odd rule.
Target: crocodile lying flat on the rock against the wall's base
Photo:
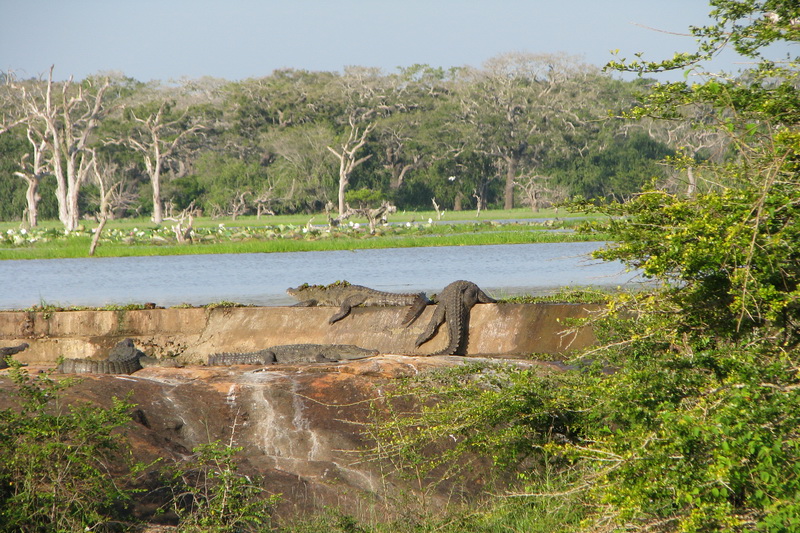
[[[210,366],[269,365],[273,363],[335,363],[378,355],[352,344],[283,344],[245,353],[215,353],[208,356]]]

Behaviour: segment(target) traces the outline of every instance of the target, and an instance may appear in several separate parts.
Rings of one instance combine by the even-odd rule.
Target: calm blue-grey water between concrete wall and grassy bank
[[[496,297],[568,285],[640,282],[619,263],[592,260],[602,243],[513,244],[334,252],[0,261],[0,309],[33,305],[165,307],[233,301],[287,305],[287,287],[336,280],[385,291],[435,293],[466,279]]]

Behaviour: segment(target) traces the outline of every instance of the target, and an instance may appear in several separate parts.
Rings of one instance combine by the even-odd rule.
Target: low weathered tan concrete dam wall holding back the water
[[[209,354],[247,352],[280,344],[355,344],[383,354],[425,355],[447,344],[447,328],[419,349],[414,341],[434,306],[411,326],[406,308],[357,308],[328,324],[331,307],[170,308],[128,311],[0,312],[0,348],[27,342],[25,363],[65,358],[104,359],[120,340],[132,338],[155,357],[205,362]],[[472,309],[467,355],[556,354],[594,342],[588,328],[565,333],[570,321],[597,306],[583,304],[480,304]]]

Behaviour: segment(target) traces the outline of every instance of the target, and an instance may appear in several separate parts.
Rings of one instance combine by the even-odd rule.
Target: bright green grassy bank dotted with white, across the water
[[[600,240],[602,235],[580,235],[570,231],[584,218],[561,219],[554,211],[541,218],[523,219],[521,210],[486,212],[483,220],[463,218],[434,223],[433,212],[400,213],[392,224],[370,234],[358,220],[330,228],[324,215],[286,217],[240,217],[237,220],[198,219],[191,236],[179,242],[171,223],[155,226],[144,220],[111,221],[103,229],[97,257],[143,255],[189,255],[220,253],[270,253],[419,246],[468,246],[484,244],[529,244]],[[433,215],[428,216],[426,215]],[[549,216],[548,216],[549,215]],[[447,214],[445,214],[445,217]],[[474,216],[474,215],[473,215]],[[302,219],[301,219],[302,217]],[[317,220],[322,218],[323,220]],[[317,224],[321,222],[321,224]],[[0,226],[0,259],[57,259],[87,257],[97,224],[87,222],[65,234],[49,221],[33,230]],[[185,229],[185,228],[184,228]]]

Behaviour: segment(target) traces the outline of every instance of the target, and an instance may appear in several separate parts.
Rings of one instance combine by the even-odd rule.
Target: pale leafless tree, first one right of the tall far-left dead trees
[[[174,127],[183,119],[180,117],[175,120],[165,121],[164,114],[167,110],[168,102],[163,102],[158,111],[151,113],[147,117],[137,117],[131,113],[133,120],[140,125],[139,136],[129,137],[126,142],[142,155],[147,175],[153,186],[153,222],[161,224],[164,219],[163,205],[161,203],[161,172],[164,163],[172,157],[181,139],[187,135],[202,129],[200,125],[194,125],[188,129],[181,130],[172,140],[165,137],[174,130]]]

